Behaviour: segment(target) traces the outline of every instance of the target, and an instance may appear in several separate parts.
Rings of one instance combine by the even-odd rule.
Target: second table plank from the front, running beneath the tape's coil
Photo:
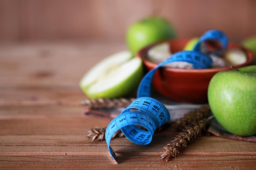
[[[68,127],[67,127],[68,128]],[[78,126],[77,129],[80,127]],[[46,127],[47,129],[47,127]],[[86,139],[87,133],[81,129],[80,134],[23,134],[23,135],[0,135],[0,155],[45,155],[49,156],[60,153],[76,155],[88,155],[92,153],[108,153],[108,147],[105,141],[92,143]],[[83,134],[82,134],[83,133]],[[74,133],[75,134],[75,133]],[[155,134],[153,141],[145,146],[133,144],[125,137],[113,139],[111,146],[117,152],[130,154],[154,153],[159,155],[162,147],[166,146],[175,136],[175,133]],[[202,136],[191,143],[184,149],[183,154],[190,155],[256,155],[256,147],[254,143],[234,141],[223,139],[215,136]],[[62,154],[61,154],[62,155]],[[179,157],[179,156],[177,156]]]

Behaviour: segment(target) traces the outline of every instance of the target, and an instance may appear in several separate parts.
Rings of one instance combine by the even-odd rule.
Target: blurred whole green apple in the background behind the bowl
[[[174,28],[168,20],[162,17],[148,17],[128,28],[126,43],[132,54],[137,54],[149,44],[175,37]]]

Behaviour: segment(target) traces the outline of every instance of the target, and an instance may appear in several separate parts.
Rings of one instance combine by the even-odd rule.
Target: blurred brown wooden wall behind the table
[[[124,41],[129,24],[152,14],[179,37],[210,28],[233,41],[256,35],[256,0],[0,0],[0,41]]]

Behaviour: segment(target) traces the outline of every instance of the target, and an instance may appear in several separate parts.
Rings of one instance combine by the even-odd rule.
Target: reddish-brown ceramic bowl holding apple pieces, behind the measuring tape
[[[175,39],[162,42],[170,44],[171,52],[175,53],[182,51],[189,40],[190,39]],[[157,64],[147,60],[148,50],[162,42],[147,46],[137,53],[137,57],[140,57],[143,60],[147,70],[151,70],[157,66]],[[230,48],[241,49],[247,54],[247,61],[241,65],[235,65],[236,68],[253,63],[254,57],[251,51],[233,43],[229,43],[228,49]],[[225,67],[193,70],[160,68],[153,78],[153,87],[157,92],[171,100],[188,103],[207,103],[207,89],[211,78],[217,72],[224,70],[231,70],[231,68]]]

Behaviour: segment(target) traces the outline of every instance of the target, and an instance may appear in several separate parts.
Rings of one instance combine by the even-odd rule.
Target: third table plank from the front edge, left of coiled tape
[[[0,107],[0,134],[81,134],[110,120],[88,118],[81,106]]]

